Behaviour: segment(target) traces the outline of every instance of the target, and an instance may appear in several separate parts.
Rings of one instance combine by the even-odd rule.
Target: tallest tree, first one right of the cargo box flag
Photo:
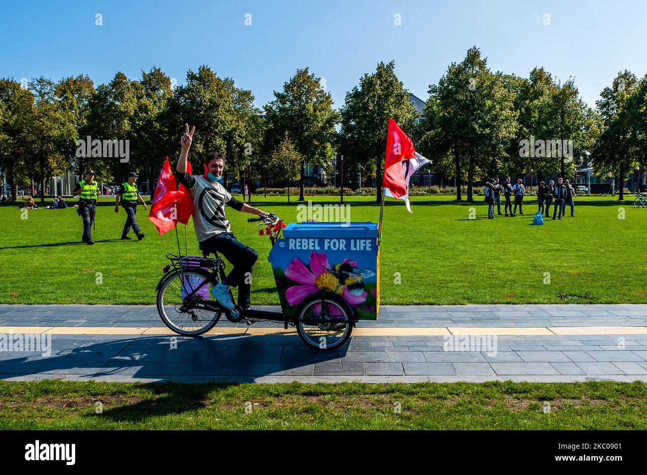
[[[515,94],[506,86],[505,76],[492,74],[487,58],[472,47],[461,63],[452,63],[438,84],[429,88],[427,143],[435,156],[451,154],[457,178],[462,178],[466,167],[468,202],[474,200],[475,176],[496,167],[518,127]],[[456,200],[461,200],[460,187]]]

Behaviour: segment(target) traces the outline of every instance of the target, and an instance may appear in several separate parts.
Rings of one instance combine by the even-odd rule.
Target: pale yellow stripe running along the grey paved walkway
[[[177,335],[163,326],[0,326],[0,333],[55,333],[59,335]],[[294,335],[295,328],[214,327],[206,335]],[[647,335],[647,326],[533,326],[533,327],[359,327],[353,335],[365,336],[445,336],[445,335]]]

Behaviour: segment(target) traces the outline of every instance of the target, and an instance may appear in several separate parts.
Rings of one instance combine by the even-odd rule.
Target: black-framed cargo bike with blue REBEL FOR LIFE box
[[[259,235],[272,243],[268,260],[281,311],[221,306],[212,288],[225,278],[225,261],[217,253],[175,255],[157,284],[157,310],[173,332],[197,336],[211,330],[222,315],[233,323],[259,321],[295,327],[303,343],[333,350],[351,336],[361,319],[377,319],[379,252],[377,224],[371,222],[303,222],[283,224],[276,215],[249,218]],[[333,262],[333,264],[331,264]],[[233,300],[233,299],[232,299]]]

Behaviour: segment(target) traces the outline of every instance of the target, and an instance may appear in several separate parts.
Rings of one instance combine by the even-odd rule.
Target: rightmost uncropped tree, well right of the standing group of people
[[[591,158],[598,173],[617,176],[619,200],[624,200],[624,176],[642,158],[637,99],[641,89],[636,76],[624,70],[613,79],[611,87],[605,87],[600,92],[601,99],[595,102],[602,118],[602,133],[595,142]]]

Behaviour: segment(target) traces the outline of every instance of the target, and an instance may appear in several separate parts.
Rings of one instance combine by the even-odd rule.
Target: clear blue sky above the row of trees
[[[0,0],[0,11],[2,77],[85,73],[98,84],[157,66],[182,84],[204,64],[251,89],[259,108],[302,67],[325,79],[340,107],[364,72],[391,59],[426,100],[473,45],[492,70],[575,76],[592,107],[620,70],[647,72],[645,1]]]

